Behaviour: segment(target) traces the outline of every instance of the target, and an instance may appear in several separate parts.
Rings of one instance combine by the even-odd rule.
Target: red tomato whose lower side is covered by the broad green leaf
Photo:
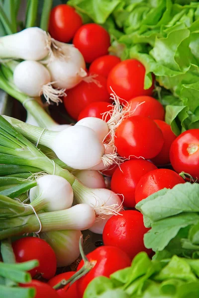
[[[169,169],[156,169],[141,177],[135,188],[136,204],[163,188],[173,188],[185,180],[176,172]]]

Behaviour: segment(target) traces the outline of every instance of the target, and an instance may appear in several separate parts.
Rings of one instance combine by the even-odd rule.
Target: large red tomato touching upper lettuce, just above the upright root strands
[[[108,74],[107,88],[111,93],[110,87],[121,98],[130,100],[141,95],[151,95],[154,89],[152,86],[144,89],[145,68],[137,60],[128,59],[118,63]]]

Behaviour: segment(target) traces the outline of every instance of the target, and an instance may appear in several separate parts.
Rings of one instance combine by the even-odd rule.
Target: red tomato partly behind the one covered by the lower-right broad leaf
[[[157,167],[150,161],[131,159],[114,171],[110,188],[116,194],[123,194],[124,207],[135,207],[135,187],[144,174],[154,169]],[[123,199],[122,196],[120,198]]]

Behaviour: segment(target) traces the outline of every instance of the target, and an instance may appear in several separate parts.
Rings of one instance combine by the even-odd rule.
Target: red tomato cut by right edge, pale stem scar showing
[[[176,138],[170,160],[176,172],[184,171],[199,179],[199,129],[190,129]]]

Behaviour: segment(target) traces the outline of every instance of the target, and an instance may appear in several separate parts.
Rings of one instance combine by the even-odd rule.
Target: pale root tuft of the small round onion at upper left
[[[54,83],[55,82],[49,82],[43,85],[39,93],[39,96],[43,93],[48,104],[50,104],[51,100],[53,102],[56,102],[56,104],[58,105],[60,102],[62,102],[60,97],[66,96],[66,89],[53,88],[52,84]]]

